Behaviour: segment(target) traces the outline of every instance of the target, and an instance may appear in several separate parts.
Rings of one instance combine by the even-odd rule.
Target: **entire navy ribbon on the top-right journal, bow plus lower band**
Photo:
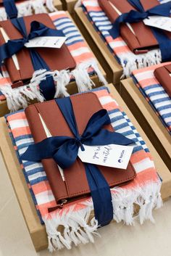
[[[122,23],[135,23],[146,19],[149,16],[159,15],[164,17],[170,17],[171,1],[165,4],[159,4],[147,11],[143,9],[140,0],[128,0],[128,2],[135,7],[138,11],[131,10],[130,12],[123,13],[117,20],[115,20],[113,27],[109,30],[110,35],[113,38],[120,36],[120,25]],[[168,61],[171,59],[171,45],[170,38],[161,30],[151,27],[154,36],[159,42],[159,49],[162,53],[162,61]]]

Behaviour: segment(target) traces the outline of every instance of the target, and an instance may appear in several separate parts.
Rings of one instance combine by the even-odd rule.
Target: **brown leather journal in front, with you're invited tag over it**
[[[92,92],[73,95],[70,96],[70,99],[72,101],[78,131],[82,134],[90,117],[95,112],[103,109],[103,107],[96,94]],[[51,100],[49,102],[30,105],[25,110],[25,115],[36,143],[46,139],[46,133],[38,114],[43,118],[52,136],[73,137],[57,103]],[[105,128],[109,131],[113,131],[112,125],[107,125]],[[64,170],[65,181],[62,180],[58,165],[53,159],[42,160],[42,164],[57,203],[60,203],[62,199],[70,201],[70,199],[78,199],[90,195],[86,171],[83,162],[81,162],[79,158],[77,158],[70,168]],[[98,166],[98,168],[101,170],[101,173],[103,173],[110,187],[123,185],[135,178],[135,170],[130,162],[127,170],[104,166]]]

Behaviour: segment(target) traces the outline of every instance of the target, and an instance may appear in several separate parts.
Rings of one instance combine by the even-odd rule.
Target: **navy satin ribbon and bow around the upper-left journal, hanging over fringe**
[[[30,39],[39,37],[39,36],[64,36],[62,31],[47,28],[41,22],[33,21],[31,22],[30,33],[27,35],[27,30],[25,28],[25,21],[23,17],[12,19],[12,24],[17,30],[20,31],[23,38],[9,40],[6,44],[3,44],[0,47],[0,63],[4,62],[4,59],[12,57],[13,54],[16,54],[18,51],[25,47],[25,43]],[[46,62],[38,54],[36,49],[29,48],[30,57],[33,63],[34,70],[46,69],[50,70]],[[54,80],[50,76],[46,80],[41,81],[40,83],[41,92],[46,100],[53,99],[55,94],[55,85]]]

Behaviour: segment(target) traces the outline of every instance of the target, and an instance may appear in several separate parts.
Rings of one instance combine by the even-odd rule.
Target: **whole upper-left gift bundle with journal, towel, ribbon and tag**
[[[33,99],[68,96],[66,86],[72,80],[79,92],[91,89],[94,74],[106,84],[93,53],[65,12],[20,17],[0,25],[0,99],[7,99],[9,110],[26,107]],[[27,47],[29,41],[33,44]]]

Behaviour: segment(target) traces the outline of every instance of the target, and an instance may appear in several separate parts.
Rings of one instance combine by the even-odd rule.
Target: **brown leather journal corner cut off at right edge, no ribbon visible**
[[[171,64],[157,67],[157,69],[154,70],[154,75],[167,94],[171,97]]]

